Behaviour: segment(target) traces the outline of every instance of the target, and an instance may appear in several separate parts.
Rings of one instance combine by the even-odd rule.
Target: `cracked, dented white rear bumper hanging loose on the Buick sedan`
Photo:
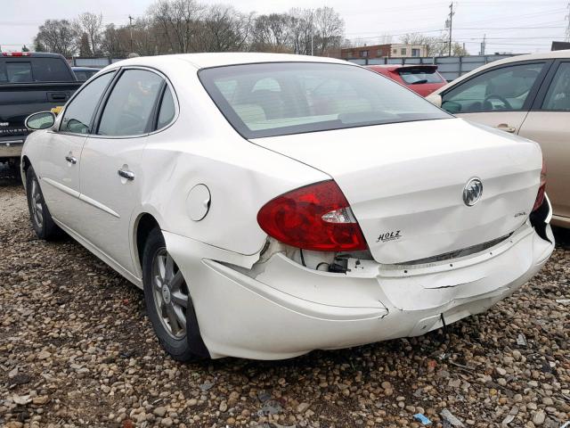
[[[502,243],[446,262],[386,266],[350,259],[350,271],[304,268],[276,253],[255,277],[212,259],[184,262],[212,358],[281,359],[428,333],[489,309],[525,284],[554,248],[530,222]],[[167,239],[168,241],[168,239]],[[172,252],[171,251],[171,252]],[[187,257],[187,256],[186,256]],[[192,284],[192,281],[191,281]],[[204,284],[204,285],[200,285]]]

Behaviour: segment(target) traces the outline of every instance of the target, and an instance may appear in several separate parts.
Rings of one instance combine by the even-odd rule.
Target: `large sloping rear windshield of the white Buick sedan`
[[[200,70],[199,79],[246,138],[451,117],[395,82],[354,65],[232,65]]]

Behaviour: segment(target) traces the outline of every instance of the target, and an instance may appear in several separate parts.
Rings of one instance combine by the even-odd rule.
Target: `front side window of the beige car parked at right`
[[[447,92],[442,107],[453,113],[522,110],[543,67],[520,64],[485,71]]]

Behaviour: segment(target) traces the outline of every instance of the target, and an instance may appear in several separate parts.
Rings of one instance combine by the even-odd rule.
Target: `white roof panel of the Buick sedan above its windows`
[[[178,53],[174,55],[141,56],[115,62],[118,67],[126,65],[159,65],[187,62],[197,69],[222,67],[226,65],[250,64],[259,62],[330,62],[356,65],[352,62],[322,56],[296,55],[289,53]]]

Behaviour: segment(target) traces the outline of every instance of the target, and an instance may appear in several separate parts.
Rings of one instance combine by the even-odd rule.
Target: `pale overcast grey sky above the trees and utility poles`
[[[105,23],[123,25],[128,15],[141,16],[152,0],[0,0],[0,45],[20,50],[32,45],[37,27],[46,19],[73,19],[81,12],[102,13]],[[201,0],[204,4],[232,4],[242,12],[285,12],[291,7],[334,7],[346,23],[347,38],[367,45],[407,32],[436,36],[444,29],[451,1],[442,0]],[[487,53],[527,53],[550,50],[551,40],[564,40],[567,0],[458,0],[453,39],[479,52],[487,36]]]

